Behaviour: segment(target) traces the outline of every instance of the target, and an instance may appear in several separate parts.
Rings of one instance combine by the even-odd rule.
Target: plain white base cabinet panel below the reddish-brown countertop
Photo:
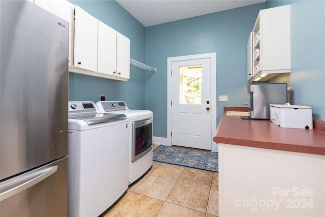
[[[219,143],[219,216],[325,216],[325,156]]]

